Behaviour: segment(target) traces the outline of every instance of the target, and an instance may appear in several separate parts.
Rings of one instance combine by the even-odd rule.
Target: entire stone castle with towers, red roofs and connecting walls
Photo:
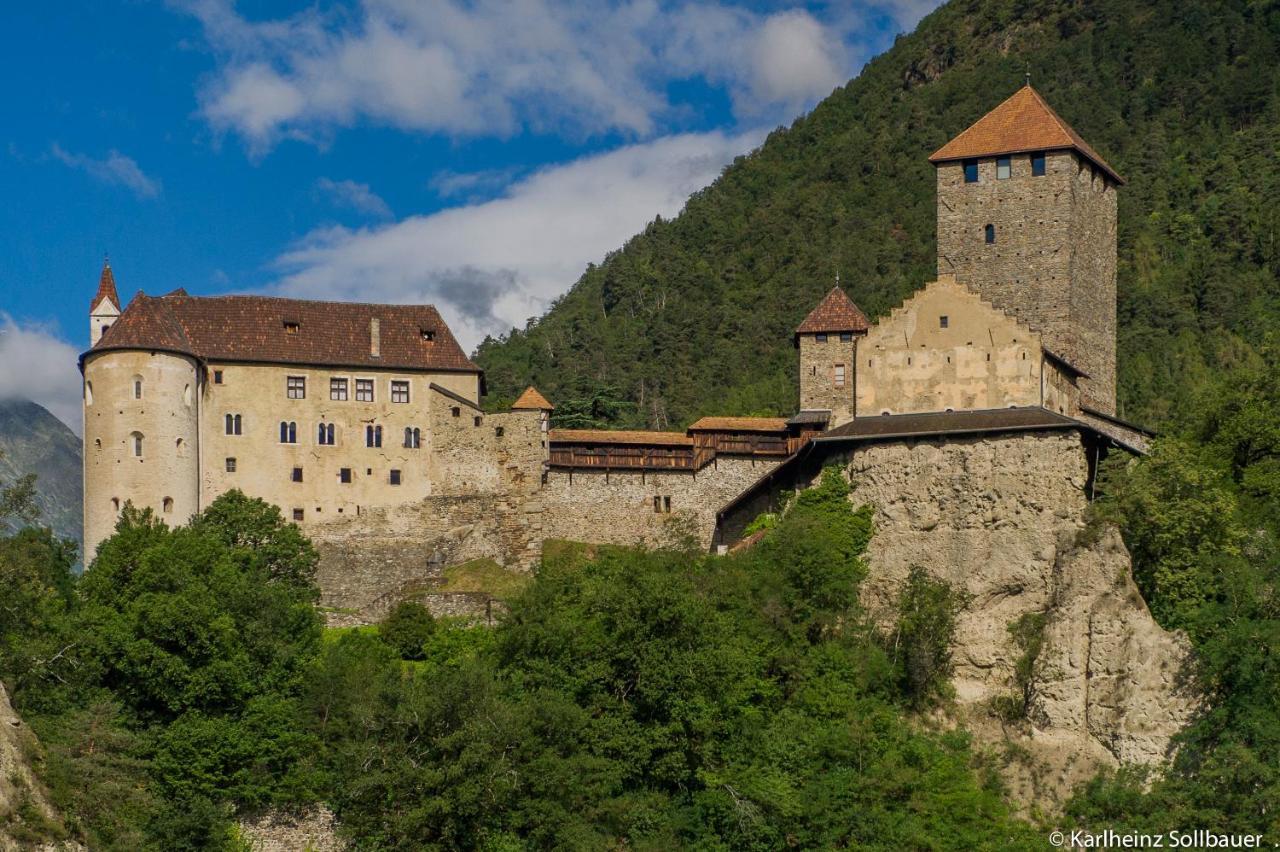
[[[183,522],[238,487],[329,549],[330,599],[364,605],[392,581],[340,565],[396,573],[390,551],[422,563],[410,573],[526,565],[544,539],[655,540],[676,517],[727,546],[868,444],[1061,432],[1091,469],[1142,452],[1115,417],[1120,175],[1029,84],[931,161],[937,280],[874,324],[837,285],[795,331],[795,416],[685,432],[549,429],[532,388],[486,413],[481,370],[429,306],[179,289],[122,310],[105,266],[81,358],[86,562],[125,503]]]

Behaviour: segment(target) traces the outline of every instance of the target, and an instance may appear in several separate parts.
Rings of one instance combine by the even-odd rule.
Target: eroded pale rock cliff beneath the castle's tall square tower
[[[961,714],[979,719],[1019,692],[1009,627],[1043,613],[1029,724],[987,727],[1079,771],[1162,760],[1197,706],[1181,675],[1189,646],[1152,619],[1119,533],[1082,535],[1084,453],[1075,432],[1043,432],[870,445],[847,463],[854,503],[876,507],[873,617],[892,623],[915,564],[963,591],[954,684]],[[1062,784],[1079,771],[1059,771]]]

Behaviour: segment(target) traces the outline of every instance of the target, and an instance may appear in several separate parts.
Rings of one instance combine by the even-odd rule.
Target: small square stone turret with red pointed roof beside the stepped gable
[[[796,329],[800,349],[800,409],[829,412],[827,427],[847,423],[856,412],[854,377],[858,339],[869,324],[840,285]]]

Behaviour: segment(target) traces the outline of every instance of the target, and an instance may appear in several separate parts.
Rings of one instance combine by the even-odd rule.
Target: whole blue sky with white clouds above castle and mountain
[[[6,4],[0,398],[79,427],[104,253],[124,301],[431,302],[471,348],[934,5]]]

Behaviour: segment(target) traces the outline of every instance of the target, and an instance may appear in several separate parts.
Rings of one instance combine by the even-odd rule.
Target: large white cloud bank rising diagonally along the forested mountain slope
[[[328,228],[278,258],[284,296],[436,304],[468,351],[524,326],[589,262],[673,216],[763,139],[671,136],[536,171],[490,201],[376,228]]]

